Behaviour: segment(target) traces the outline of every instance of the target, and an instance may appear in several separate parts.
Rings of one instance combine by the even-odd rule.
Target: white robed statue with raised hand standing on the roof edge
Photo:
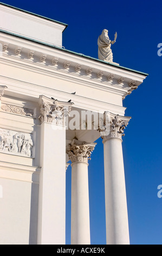
[[[113,53],[111,50],[111,45],[116,41],[117,33],[115,33],[115,38],[111,41],[108,37],[108,30],[103,29],[102,34],[98,38],[98,58],[105,60],[106,62],[113,62]]]

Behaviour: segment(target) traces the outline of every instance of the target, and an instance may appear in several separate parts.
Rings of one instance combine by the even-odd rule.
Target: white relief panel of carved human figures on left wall
[[[0,129],[0,152],[31,157],[32,148],[30,133]]]

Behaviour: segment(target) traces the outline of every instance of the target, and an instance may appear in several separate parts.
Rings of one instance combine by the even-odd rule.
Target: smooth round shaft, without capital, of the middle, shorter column
[[[72,245],[90,245],[88,164],[72,163]]]

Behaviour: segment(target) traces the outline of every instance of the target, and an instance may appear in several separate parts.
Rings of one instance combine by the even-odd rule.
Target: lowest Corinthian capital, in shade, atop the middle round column
[[[67,145],[66,153],[69,159],[74,162],[85,162],[88,163],[90,155],[94,150],[96,143],[80,142],[77,139],[73,139],[71,144]]]

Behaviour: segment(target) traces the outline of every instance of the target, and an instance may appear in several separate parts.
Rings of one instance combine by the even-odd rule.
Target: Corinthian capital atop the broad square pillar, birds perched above
[[[73,102],[51,100],[46,96],[40,96],[40,122],[45,121],[56,125],[64,125],[65,118],[69,115]]]

